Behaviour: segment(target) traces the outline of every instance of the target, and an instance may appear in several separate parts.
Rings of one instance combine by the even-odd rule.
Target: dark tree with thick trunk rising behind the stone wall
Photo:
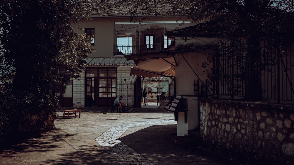
[[[261,52],[260,38],[277,38],[293,41],[293,1],[275,0],[226,0],[189,1],[191,13],[188,18],[194,21],[213,19],[218,21],[216,28],[225,32],[224,38],[246,39],[245,98],[261,100]],[[292,26],[292,27],[291,27]],[[241,30],[240,30],[241,29]],[[283,29],[283,30],[282,30]],[[289,36],[291,36],[289,38]]]

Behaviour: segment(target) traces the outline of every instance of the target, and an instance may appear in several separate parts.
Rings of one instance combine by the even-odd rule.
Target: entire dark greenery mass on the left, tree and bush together
[[[91,38],[73,30],[80,11],[80,0],[0,1],[0,142],[40,131],[20,128],[28,115],[54,113],[58,101],[51,91],[84,69],[93,50]],[[69,76],[56,74],[61,64]]]

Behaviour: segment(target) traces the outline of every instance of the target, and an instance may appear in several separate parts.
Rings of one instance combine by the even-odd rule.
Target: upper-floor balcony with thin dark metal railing
[[[114,45],[113,55],[130,55],[150,52],[161,52],[166,50],[166,44],[152,44],[152,45]]]

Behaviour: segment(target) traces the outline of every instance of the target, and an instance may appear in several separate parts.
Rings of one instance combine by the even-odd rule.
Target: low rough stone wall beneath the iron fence
[[[242,164],[294,164],[293,124],[293,105],[200,100],[204,144]]]

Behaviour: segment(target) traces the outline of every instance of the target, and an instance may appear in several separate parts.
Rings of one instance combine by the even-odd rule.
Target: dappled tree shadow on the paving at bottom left
[[[2,148],[0,164],[118,164],[116,159],[98,145],[72,146],[65,139],[72,139],[75,134],[56,133],[62,135],[51,131],[38,138]]]

